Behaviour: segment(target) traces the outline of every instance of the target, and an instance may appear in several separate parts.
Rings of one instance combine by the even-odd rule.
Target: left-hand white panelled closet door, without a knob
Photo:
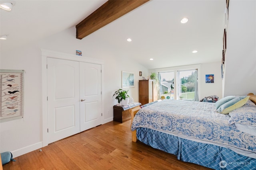
[[[80,132],[79,62],[47,58],[48,143]]]

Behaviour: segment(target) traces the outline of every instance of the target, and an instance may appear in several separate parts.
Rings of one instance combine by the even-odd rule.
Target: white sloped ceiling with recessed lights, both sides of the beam
[[[0,10],[0,35],[8,35],[8,40],[0,42],[1,50],[74,27],[105,2],[15,0],[12,11]],[[151,0],[88,36],[101,37],[99,45],[112,47],[116,55],[149,69],[218,62],[222,58],[225,2]],[[184,17],[188,22],[182,24]]]

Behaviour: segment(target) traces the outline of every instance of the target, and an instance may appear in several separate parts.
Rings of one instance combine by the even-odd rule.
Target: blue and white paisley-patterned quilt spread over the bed
[[[214,103],[163,100],[140,109],[131,128],[165,131],[256,153],[256,136],[229,125],[229,119],[216,111]]]

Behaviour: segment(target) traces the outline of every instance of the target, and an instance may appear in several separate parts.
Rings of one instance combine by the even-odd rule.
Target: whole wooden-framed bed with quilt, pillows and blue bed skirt
[[[256,105],[249,96],[216,103],[166,99],[130,113],[133,142],[216,170],[256,167]]]

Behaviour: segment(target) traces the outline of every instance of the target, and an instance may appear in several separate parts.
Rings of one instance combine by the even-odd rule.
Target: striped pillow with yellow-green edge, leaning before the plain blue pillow
[[[240,96],[222,104],[217,111],[223,114],[228,114],[230,111],[244,106],[249,100],[250,96]]]

